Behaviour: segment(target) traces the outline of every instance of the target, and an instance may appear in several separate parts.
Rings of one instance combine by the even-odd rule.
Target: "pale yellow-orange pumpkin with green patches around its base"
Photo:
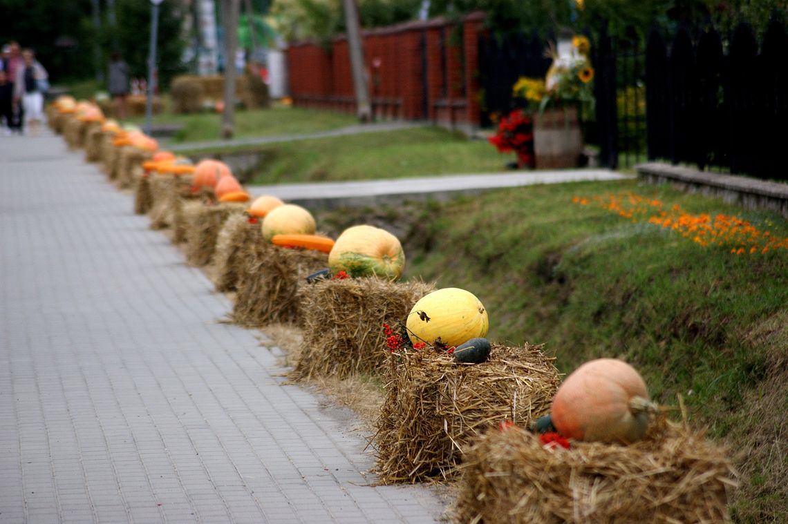
[[[396,280],[405,268],[400,241],[380,227],[348,227],[336,239],[329,253],[329,268],[351,277],[378,276]]]

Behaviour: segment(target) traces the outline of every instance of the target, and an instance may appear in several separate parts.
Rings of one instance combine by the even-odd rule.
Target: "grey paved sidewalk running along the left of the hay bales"
[[[61,138],[0,137],[0,522],[434,522]]]

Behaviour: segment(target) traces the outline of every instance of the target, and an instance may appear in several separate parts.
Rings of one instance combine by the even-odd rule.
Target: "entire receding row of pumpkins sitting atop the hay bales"
[[[59,99],[60,100],[60,99]],[[121,128],[104,120],[101,110],[88,102],[64,98],[55,102],[61,113],[76,113],[83,121],[102,122],[104,131],[116,135],[115,145],[135,146],[154,153],[145,168],[170,174],[193,174],[195,189],[210,188],[219,201],[251,201],[229,167],[206,159],[196,166],[188,159],[158,151],[156,141],[134,127]],[[315,234],[316,223],[307,209],[285,204],[279,198],[262,195],[247,208],[250,216],[262,220],[262,235],[276,245],[318,249],[329,254],[333,274],[344,271],[350,277],[374,276],[396,280],[405,267],[400,241],[388,231],[369,225],[349,227],[336,241]],[[489,319],[481,301],[466,290],[445,288],[422,297],[407,317],[411,342],[454,346],[458,350],[486,345]],[[549,415],[534,424],[539,431],[556,430],[563,437],[582,441],[630,443],[640,440],[658,409],[649,400],[645,382],[634,367],[616,359],[592,360],[578,367],[559,387]]]

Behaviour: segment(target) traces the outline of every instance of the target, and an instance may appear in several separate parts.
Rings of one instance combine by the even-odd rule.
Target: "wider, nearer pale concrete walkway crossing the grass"
[[[343,205],[398,204],[406,200],[441,200],[458,194],[534,184],[623,180],[630,178],[608,169],[567,169],[511,173],[445,175],[412,179],[364,180],[248,186],[251,194],[273,194],[307,208],[335,208]]]

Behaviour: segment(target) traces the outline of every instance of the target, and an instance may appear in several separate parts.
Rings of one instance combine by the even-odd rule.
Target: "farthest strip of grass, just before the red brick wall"
[[[355,117],[342,113],[283,106],[238,111],[235,117],[236,138],[314,133],[352,125],[357,121]],[[141,125],[144,118],[139,117],[129,121]],[[154,116],[153,121],[154,124],[184,124],[183,130],[177,134],[174,142],[201,142],[221,138],[221,115],[219,113],[195,115],[165,113]]]

